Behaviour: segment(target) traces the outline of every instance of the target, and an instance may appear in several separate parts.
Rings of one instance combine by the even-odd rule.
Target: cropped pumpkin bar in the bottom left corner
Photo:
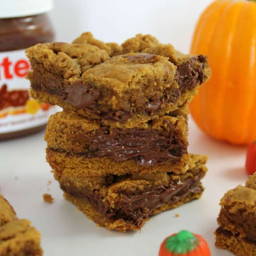
[[[12,206],[0,196],[0,255],[41,256],[40,239],[30,221],[18,219]]]

